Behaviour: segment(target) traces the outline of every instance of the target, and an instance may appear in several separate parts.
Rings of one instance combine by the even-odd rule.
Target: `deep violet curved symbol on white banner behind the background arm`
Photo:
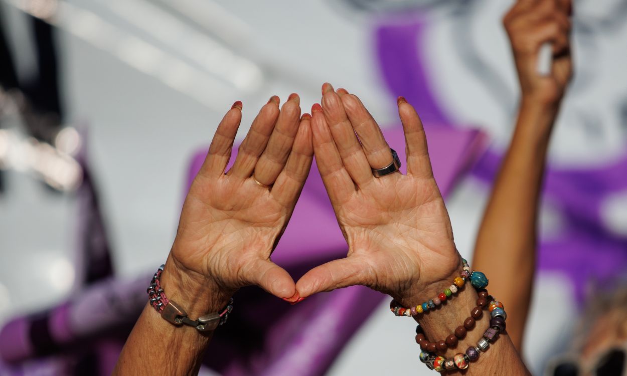
[[[451,121],[429,85],[432,76],[424,68],[424,28],[421,18],[413,23],[391,21],[377,28],[381,75],[391,93],[405,95],[426,123],[450,128]],[[502,156],[502,150],[489,150],[472,174],[491,183]],[[565,223],[559,239],[540,239],[539,268],[561,271],[571,278],[579,303],[590,281],[612,278],[627,270],[627,239],[609,232],[600,216],[603,199],[621,191],[627,191],[627,151],[598,169],[551,165],[547,169],[543,200],[561,209]]]

